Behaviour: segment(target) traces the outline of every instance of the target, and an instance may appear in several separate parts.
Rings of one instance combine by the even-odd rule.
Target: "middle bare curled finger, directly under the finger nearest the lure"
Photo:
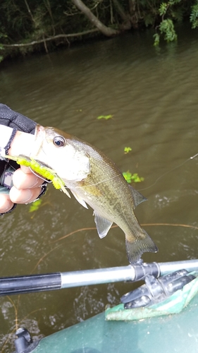
[[[13,186],[10,191],[10,198],[13,203],[30,203],[38,198],[41,191],[41,187],[19,190]]]

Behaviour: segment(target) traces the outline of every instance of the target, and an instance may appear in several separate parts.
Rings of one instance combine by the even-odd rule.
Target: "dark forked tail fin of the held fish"
[[[125,237],[126,251],[130,264],[140,260],[142,253],[156,253],[158,251],[156,244],[154,244],[154,241],[144,229],[142,229],[141,237]]]

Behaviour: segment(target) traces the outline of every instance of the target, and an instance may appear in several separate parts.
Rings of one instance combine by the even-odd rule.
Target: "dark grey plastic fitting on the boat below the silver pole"
[[[147,275],[144,277],[144,285],[124,294],[120,300],[125,309],[151,306],[167,299],[194,278],[187,270],[178,270],[159,278],[154,277],[154,275]]]

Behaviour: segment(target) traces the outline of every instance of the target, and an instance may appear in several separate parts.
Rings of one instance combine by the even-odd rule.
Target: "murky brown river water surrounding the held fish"
[[[144,261],[197,258],[198,157],[190,157],[198,152],[198,45],[196,32],[180,35],[182,42],[159,51],[150,32],[137,33],[3,63],[0,69],[1,102],[89,141],[122,172],[144,177],[135,187],[149,201],[136,215],[159,247],[159,253],[144,254]],[[97,119],[107,114],[113,119]],[[125,155],[125,146],[132,152]],[[99,239],[92,210],[53,186],[41,208],[29,211],[21,205],[1,217],[1,277],[128,265],[123,232],[113,228]],[[82,228],[87,229],[75,232]],[[14,350],[17,324],[33,337],[49,335],[108,303],[118,304],[134,286],[1,297],[1,352]]]

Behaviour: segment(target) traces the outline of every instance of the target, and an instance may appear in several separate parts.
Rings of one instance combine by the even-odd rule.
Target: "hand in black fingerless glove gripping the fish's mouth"
[[[4,118],[7,116],[8,121],[1,119],[1,112],[4,112],[2,114]],[[1,138],[4,136],[3,131],[5,131],[3,125],[10,125],[12,128],[17,128],[18,130],[11,140],[7,154],[11,156],[23,155],[23,153],[27,156],[30,155],[35,140],[34,135],[32,135],[35,122],[0,104],[0,124],[1,122]],[[9,127],[6,127],[6,129],[9,129]],[[0,142],[2,141],[0,140]],[[6,164],[6,167],[4,164]],[[35,201],[46,190],[46,183],[43,184],[43,179],[33,174],[28,167],[22,166],[18,168],[19,166],[16,162],[0,161],[0,214],[8,213],[14,208],[16,203],[30,203]],[[15,171],[15,169],[17,170]],[[4,170],[8,171],[6,180],[4,180]]]

